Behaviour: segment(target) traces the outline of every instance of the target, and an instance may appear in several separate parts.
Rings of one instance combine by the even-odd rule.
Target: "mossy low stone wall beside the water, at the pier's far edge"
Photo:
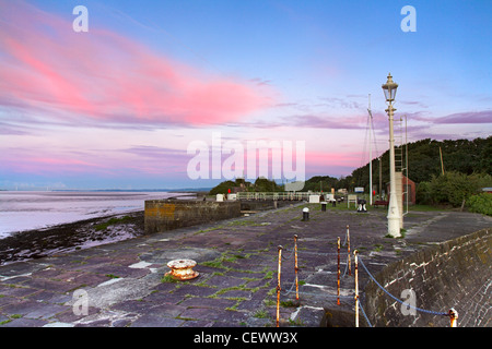
[[[241,216],[239,202],[145,201],[145,233],[172,230]]]

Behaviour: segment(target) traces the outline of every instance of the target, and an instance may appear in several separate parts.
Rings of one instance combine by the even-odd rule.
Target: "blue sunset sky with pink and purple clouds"
[[[488,137],[491,14],[489,0],[0,0],[0,189],[345,177],[388,149],[388,73],[408,142]]]

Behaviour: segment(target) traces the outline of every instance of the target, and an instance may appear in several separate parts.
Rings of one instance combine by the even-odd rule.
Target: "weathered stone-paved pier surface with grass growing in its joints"
[[[304,207],[311,209],[308,220],[303,220]],[[391,239],[385,237],[386,214],[383,208],[324,212],[318,204],[295,204],[10,263],[0,266],[0,327],[274,327],[279,245],[283,246],[280,326],[350,327],[354,265],[349,275],[347,244],[341,248],[341,304],[337,304],[337,238],[343,244],[347,226],[351,251],[360,252],[373,275],[423,249],[492,228],[492,217],[478,214],[411,212],[405,218],[406,237]],[[298,300],[293,284],[294,236]],[[197,262],[197,278],[165,277],[167,263],[180,258]],[[370,277],[361,269],[359,275],[363,301]],[[362,315],[361,324],[365,324]]]

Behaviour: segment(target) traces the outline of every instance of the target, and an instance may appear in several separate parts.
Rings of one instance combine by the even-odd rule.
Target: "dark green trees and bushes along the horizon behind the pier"
[[[492,136],[471,141],[425,139],[408,143],[407,149],[401,154],[403,164],[408,164],[408,178],[418,184],[418,203],[462,206],[480,188],[492,186]],[[380,172],[380,182],[385,189],[389,182],[389,151],[372,159],[372,168],[373,188],[378,186]],[[329,192],[335,188],[352,192],[355,186],[363,186],[368,192],[368,171],[367,163],[347,177],[315,176],[305,182],[303,191]],[[229,189],[239,186],[242,183],[247,191],[284,190],[283,185],[265,178],[258,178],[254,183],[236,179],[220,183],[210,191],[210,194],[227,193]],[[484,197],[488,202],[489,196]],[[481,202],[481,198],[478,202]]]

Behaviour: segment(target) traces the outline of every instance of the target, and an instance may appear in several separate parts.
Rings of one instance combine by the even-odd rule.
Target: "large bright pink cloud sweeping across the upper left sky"
[[[0,0],[0,104],[107,122],[216,124],[269,106],[268,87],[210,76],[117,33]],[[66,113],[65,113],[66,115]]]

